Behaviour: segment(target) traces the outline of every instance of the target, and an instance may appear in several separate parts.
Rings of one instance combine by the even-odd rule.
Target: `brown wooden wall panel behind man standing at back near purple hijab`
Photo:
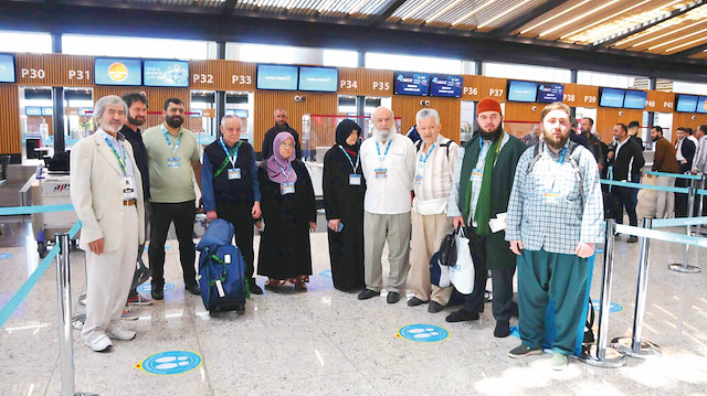
[[[305,100],[295,101],[295,96],[304,96]],[[256,90],[254,95],[255,117],[253,117],[253,147],[255,151],[262,151],[263,138],[265,132],[275,125],[273,111],[278,107],[287,110],[287,124],[297,130],[299,138],[303,139],[302,116],[305,114],[336,115],[338,101],[336,94]],[[316,129],[317,127],[313,125],[312,149],[314,150],[317,146],[331,146],[334,139],[328,141],[328,136]]]

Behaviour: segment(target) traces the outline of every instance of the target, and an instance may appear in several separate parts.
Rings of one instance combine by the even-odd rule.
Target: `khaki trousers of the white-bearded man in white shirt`
[[[410,212],[378,214],[363,212],[363,270],[366,288],[383,288],[381,256],[388,242],[388,291],[404,295],[410,270]]]

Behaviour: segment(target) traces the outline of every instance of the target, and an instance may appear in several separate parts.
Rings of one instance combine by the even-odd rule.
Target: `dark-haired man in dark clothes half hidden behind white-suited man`
[[[150,178],[149,171],[147,167],[147,149],[145,148],[145,143],[143,142],[143,131],[140,130],[140,126],[145,124],[145,118],[147,116],[147,96],[143,93],[128,93],[120,97],[125,105],[128,107],[128,113],[126,114],[126,122],[120,129],[120,133],[125,136],[127,141],[133,146],[133,153],[135,154],[135,162],[137,163],[137,168],[140,170],[140,175],[143,176],[143,200],[145,201],[145,220],[149,222],[149,213],[147,208],[149,206],[149,197],[150,197]],[[147,234],[147,226],[145,227]],[[137,263],[140,268],[145,267],[143,263],[143,253],[145,253],[145,244],[140,244],[137,247]],[[128,306],[149,306],[152,303],[152,300],[149,297],[144,297],[138,295],[137,287],[139,286],[139,278],[143,271],[140,268],[135,270],[135,275],[133,276],[133,285],[130,286],[130,292],[128,293]],[[147,280],[147,279],[145,279]],[[127,320],[136,320],[137,312],[130,310],[129,307],[126,307],[123,311],[123,319]]]

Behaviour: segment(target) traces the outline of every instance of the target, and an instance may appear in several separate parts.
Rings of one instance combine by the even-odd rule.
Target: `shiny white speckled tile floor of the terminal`
[[[674,229],[679,232],[679,229]],[[609,335],[630,335],[636,290],[639,244],[620,239],[615,249]],[[176,240],[169,245],[177,246]],[[680,248],[653,243],[644,339],[663,356],[629,360],[622,368],[597,368],[576,360],[563,372],[549,368],[549,355],[510,360],[515,338],[495,339],[490,307],[481,321],[446,323],[426,306],[384,297],[358,301],[319,272],[329,269],[325,233],[313,236],[314,276],[309,291],[266,291],[247,302],[242,317],[210,318],[201,299],[184,296],[178,249],[167,250],[167,281],[177,288],[154,306],[138,308],[140,319],[124,322],[137,331],[113,352],[94,353],[74,332],[76,389],[101,395],[705,395],[707,394],[707,274],[667,269]],[[257,246],[257,242],[256,242]],[[36,265],[33,247],[1,248],[0,303]],[[147,255],[146,255],[147,256]],[[701,249],[692,264],[706,269]],[[83,253],[71,255],[73,296],[84,291]],[[594,267],[592,298],[599,299],[601,256]],[[258,283],[262,286],[262,278]],[[435,343],[395,336],[402,325],[430,323],[449,330]],[[511,324],[515,324],[515,320]],[[55,270],[50,267],[18,311],[0,330],[0,395],[56,395],[61,389]],[[147,356],[171,350],[199,353],[203,364],[171,376],[135,367]]]

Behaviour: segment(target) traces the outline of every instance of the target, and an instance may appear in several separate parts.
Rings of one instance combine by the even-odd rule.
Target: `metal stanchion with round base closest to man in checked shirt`
[[[616,368],[626,364],[626,356],[623,353],[613,349],[606,349],[615,234],[616,223],[613,220],[608,220],[604,244],[604,274],[601,285],[601,311],[599,312],[599,333],[597,334],[597,344],[584,346],[582,349],[582,354],[579,356],[580,362],[604,368]]]

